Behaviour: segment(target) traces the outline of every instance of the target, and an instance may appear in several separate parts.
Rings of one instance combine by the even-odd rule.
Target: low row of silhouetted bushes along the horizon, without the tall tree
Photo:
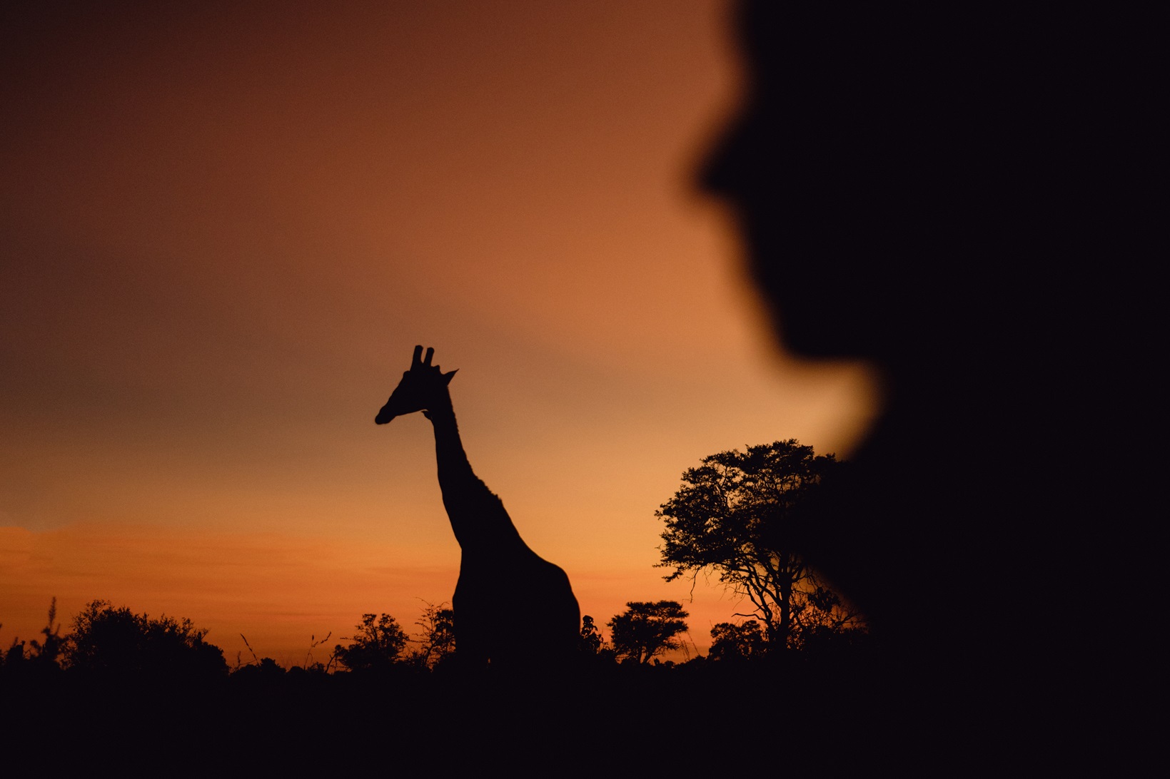
[[[684,662],[663,660],[669,652],[684,650],[688,613],[672,600],[631,601],[621,614],[605,623],[608,635],[591,615],[581,619],[579,656],[569,664],[578,669],[606,666],[654,666],[672,668],[680,664],[760,663],[779,654],[775,640],[757,620],[721,622],[711,628],[711,646],[703,656],[697,653]],[[314,674],[431,674],[459,666],[455,640],[455,615],[446,604],[426,604],[414,625],[418,637],[390,614],[364,614],[351,636],[335,643],[330,636],[310,637],[305,661],[294,666],[298,673]],[[0,656],[5,678],[19,675],[69,673],[78,676],[113,678],[213,678],[242,674],[278,675],[288,670],[271,657],[260,657],[243,637],[252,657],[238,655],[229,664],[223,650],[207,641],[207,630],[197,628],[190,619],[151,618],[125,606],[115,607],[105,600],[94,600],[78,613],[71,629],[62,634],[53,600],[47,625],[36,639],[15,639]],[[861,652],[868,634],[852,626],[811,622],[803,632],[790,632],[785,653],[820,655],[830,652]],[[325,652],[318,647],[325,646]],[[693,644],[691,644],[693,646]],[[534,647],[534,654],[541,647]],[[321,659],[314,657],[318,650]]]

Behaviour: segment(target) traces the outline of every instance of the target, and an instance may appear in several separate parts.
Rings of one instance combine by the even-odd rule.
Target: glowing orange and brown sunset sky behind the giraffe
[[[600,622],[689,597],[683,469],[863,429],[869,373],[777,353],[691,186],[723,2],[115,5],[0,25],[0,644],[105,598],[291,663],[448,600],[429,423],[373,425],[415,344]],[[737,611],[688,608],[700,648]]]

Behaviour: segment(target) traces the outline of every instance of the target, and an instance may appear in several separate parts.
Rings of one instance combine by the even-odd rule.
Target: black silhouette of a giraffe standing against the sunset
[[[434,349],[414,347],[411,370],[374,422],[421,411],[435,430],[439,488],[462,549],[455,612],[461,663],[531,668],[560,664],[576,649],[580,609],[569,577],[521,539],[503,503],[472,470],[450,402],[455,371],[431,365]]]

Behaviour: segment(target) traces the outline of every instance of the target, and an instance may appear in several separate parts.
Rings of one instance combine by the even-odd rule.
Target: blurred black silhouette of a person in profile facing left
[[[1110,601],[1095,566],[1130,543],[1101,449],[1133,437],[1127,360],[1151,318],[1131,295],[1142,22],[738,12],[748,92],[702,186],[732,207],[778,338],[886,385],[804,549],[892,655],[932,669],[923,687],[941,668],[1083,678]]]

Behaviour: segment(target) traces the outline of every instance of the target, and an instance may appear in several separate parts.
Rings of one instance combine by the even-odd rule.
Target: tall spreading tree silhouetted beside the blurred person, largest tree
[[[768,642],[793,646],[805,627],[833,629],[858,615],[819,581],[800,553],[801,523],[815,522],[808,497],[839,467],[794,439],[721,451],[682,475],[655,516],[666,522],[659,567],[667,581],[713,570],[748,598]]]

